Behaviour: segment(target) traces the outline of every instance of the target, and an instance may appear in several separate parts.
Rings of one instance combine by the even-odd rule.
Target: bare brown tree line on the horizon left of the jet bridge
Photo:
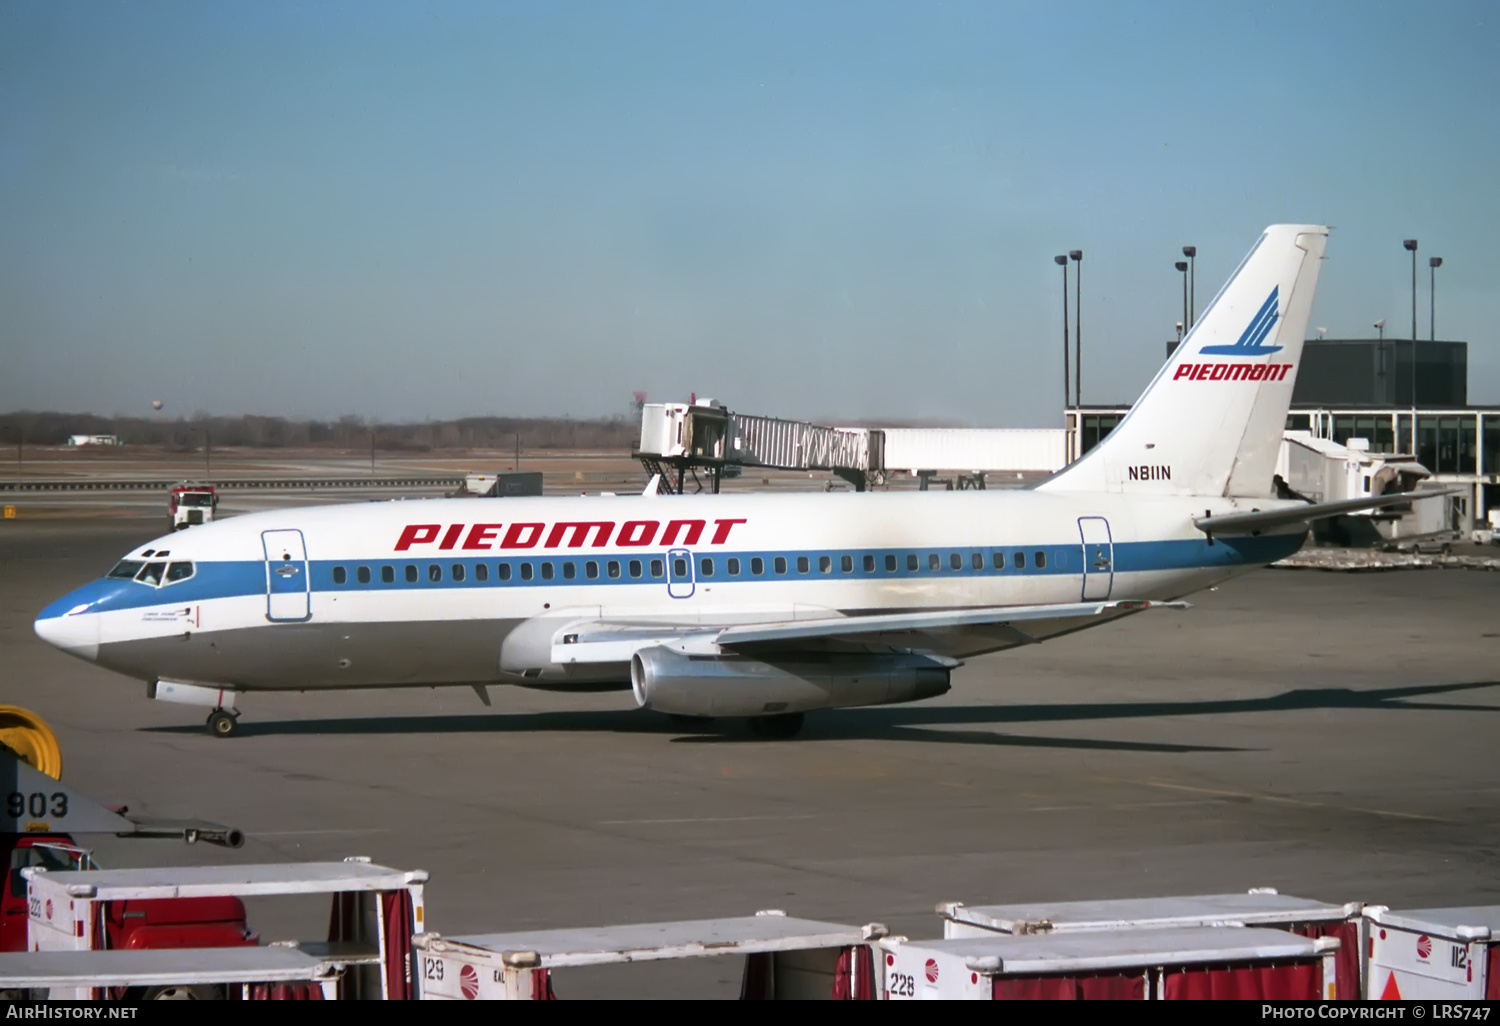
[[[628,450],[639,426],[624,417],[572,420],[564,417],[462,417],[420,424],[382,424],[363,417],[288,420],[285,417],[100,417],[98,414],[0,414],[0,446],[62,446],[69,435],[117,435],[124,446],[170,450],[244,446],[252,448],[326,447],[380,452],[435,448],[590,448]]]

